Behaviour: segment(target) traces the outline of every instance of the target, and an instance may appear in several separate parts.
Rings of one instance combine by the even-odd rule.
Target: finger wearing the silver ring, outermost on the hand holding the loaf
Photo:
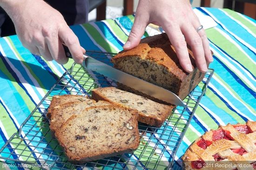
[[[194,26],[195,29],[198,28],[198,25],[200,26],[201,24],[194,12],[193,12],[193,16],[191,16],[191,17],[192,17],[191,20],[195,21],[195,22],[192,22],[192,25]],[[211,53],[211,50],[209,47],[209,40],[206,36],[204,29],[198,31],[198,34],[202,39],[202,46],[203,46],[206,62],[211,63],[211,62],[213,62],[213,57],[212,57],[212,53]]]

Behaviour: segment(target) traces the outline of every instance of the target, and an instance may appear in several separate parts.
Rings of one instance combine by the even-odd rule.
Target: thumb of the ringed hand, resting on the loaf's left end
[[[132,30],[129,34],[127,42],[123,45],[124,50],[130,50],[132,48],[135,48],[138,44],[141,42],[141,37],[143,36],[145,32],[145,28],[147,26],[147,23],[145,20],[141,20],[139,18],[136,18],[132,27]]]

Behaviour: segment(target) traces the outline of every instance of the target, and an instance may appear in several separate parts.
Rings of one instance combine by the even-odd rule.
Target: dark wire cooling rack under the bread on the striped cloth
[[[88,55],[110,63],[113,53],[88,51]],[[47,108],[54,95],[91,95],[97,87],[116,86],[115,82],[95,72],[74,64],[54,84],[34,111],[22,123],[0,150],[0,160],[17,167],[47,170],[167,170],[174,163],[176,151],[195,113],[214,70],[209,69],[202,82],[183,102],[186,107],[176,107],[161,128],[139,123],[140,145],[133,153],[72,164],[67,160],[58,141],[49,129]]]

